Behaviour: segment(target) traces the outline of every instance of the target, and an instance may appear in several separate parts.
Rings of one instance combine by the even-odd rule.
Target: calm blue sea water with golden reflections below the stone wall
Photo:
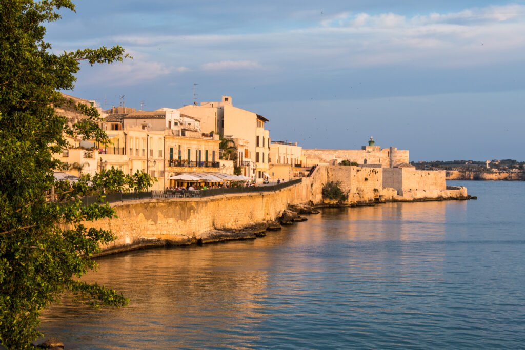
[[[525,183],[324,209],[262,239],[99,259],[131,304],[64,303],[66,348],[525,348]]]

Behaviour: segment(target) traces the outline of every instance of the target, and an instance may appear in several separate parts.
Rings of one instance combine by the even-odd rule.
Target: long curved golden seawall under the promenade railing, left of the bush
[[[317,168],[301,184],[276,192],[208,198],[170,198],[113,203],[116,218],[83,222],[87,227],[110,229],[117,239],[103,251],[144,246],[195,243],[205,232],[241,229],[256,221],[275,220],[289,203],[322,203],[327,170]]]

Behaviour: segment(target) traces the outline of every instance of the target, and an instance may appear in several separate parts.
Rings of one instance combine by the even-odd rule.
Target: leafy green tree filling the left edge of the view
[[[124,176],[116,169],[78,183],[57,183],[54,170],[68,166],[52,155],[78,135],[106,143],[94,108],[75,105],[57,90],[71,90],[81,62],[121,61],[119,47],[51,52],[44,23],[74,10],[69,0],[0,0],[0,344],[26,348],[39,333],[40,311],[68,293],[92,306],[121,306],[121,294],[80,276],[96,268],[89,257],[114,239],[110,231],[82,221],[114,216],[104,203],[81,206],[79,196],[105,190],[130,190],[151,184],[145,174]],[[69,104],[86,115],[68,127],[54,105]],[[50,190],[55,187],[55,194]]]

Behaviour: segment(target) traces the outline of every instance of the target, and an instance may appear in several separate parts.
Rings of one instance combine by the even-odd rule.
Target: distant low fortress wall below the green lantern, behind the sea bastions
[[[392,167],[396,164],[408,163],[408,151],[396,147],[382,149],[379,146],[363,146],[362,150],[305,150],[301,155],[319,163],[337,165],[348,160],[358,164],[380,164],[381,167]]]

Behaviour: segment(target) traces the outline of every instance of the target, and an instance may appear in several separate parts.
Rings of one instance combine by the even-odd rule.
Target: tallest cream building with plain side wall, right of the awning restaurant
[[[248,157],[251,160],[251,169],[247,170],[250,174],[245,176],[256,182],[263,181],[265,174],[269,172],[270,135],[265,129],[268,119],[234,107],[230,96],[223,96],[219,102],[185,105],[178,111],[201,121],[201,128],[205,133],[213,132],[229,139],[245,140],[242,158],[243,161]]]

